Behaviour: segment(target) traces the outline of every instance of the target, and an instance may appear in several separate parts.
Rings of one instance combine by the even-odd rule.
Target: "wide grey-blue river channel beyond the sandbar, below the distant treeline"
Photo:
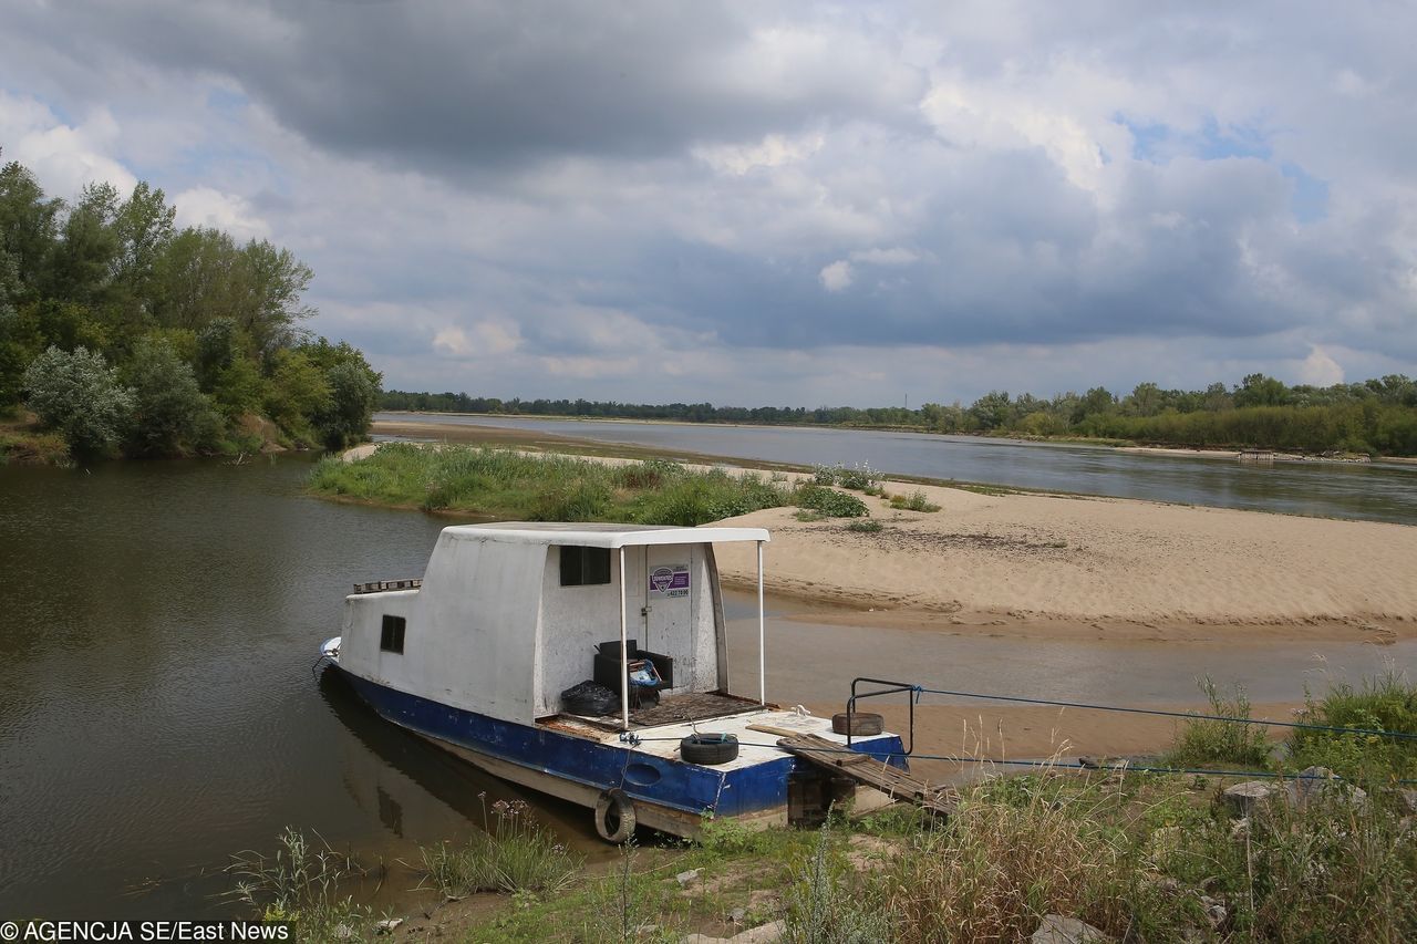
[[[402,412],[377,418],[536,429],[599,442],[796,465],[864,462],[873,469],[932,479],[1417,524],[1417,466],[1410,465],[1253,463],[1105,446],[808,427]]]

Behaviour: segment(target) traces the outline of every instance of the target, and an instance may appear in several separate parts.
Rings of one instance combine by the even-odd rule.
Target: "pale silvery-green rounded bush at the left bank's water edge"
[[[58,429],[79,455],[109,449],[133,412],[133,391],[119,384],[102,354],[84,347],[50,347],[24,371],[24,387],[40,422]]]

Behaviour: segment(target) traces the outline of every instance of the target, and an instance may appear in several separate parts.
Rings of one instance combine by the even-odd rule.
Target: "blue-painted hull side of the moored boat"
[[[621,790],[636,807],[655,807],[676,819],[755,816],[782,811],[788,778],[806,761],[782,755],[751,767],[723,770],[687,764],[635,750],[633,744],[602,744],[541,726],[514,724],[398,692],[334,666],[378,714],[422,734],[495,774],[568,799],[594,804],[604,791]],[[894,734],[859,740],[854,750],[904,768]],[[555,790],[565,784],[570,790]],[[653,825],[649,822],[648,825]],[[677,832],[677,829],[676,829]]]

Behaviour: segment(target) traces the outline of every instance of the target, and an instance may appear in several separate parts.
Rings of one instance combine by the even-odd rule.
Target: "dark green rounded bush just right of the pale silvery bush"
[[[191,364],[167,340],[146,337],[128,366],[136,412],[129,448],[136,455],[180,455],[220,439],[221,420],[197,387]]]

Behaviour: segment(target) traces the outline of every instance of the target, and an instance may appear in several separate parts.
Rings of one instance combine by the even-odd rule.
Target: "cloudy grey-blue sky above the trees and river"
[[[0,147],[289,247],[385,386],[1417,374],[1407,3],[0,0]]]

